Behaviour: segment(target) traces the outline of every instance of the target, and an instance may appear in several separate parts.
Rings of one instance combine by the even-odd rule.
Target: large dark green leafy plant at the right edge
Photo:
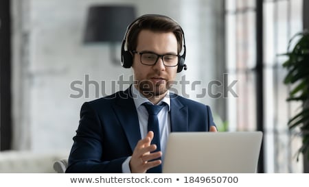
[[[290,49],[292,46],[293,49]],[[302,102],[300,111],[288,121],[288,127],[300,129],[302,145],[298,150],[297,160],[300,153],[309,160],[309,32],[295,34],[288,44],[288,53],[284,55],[288,56],[283,64],[288,71],[284,84],[291,86],[286,100]]]

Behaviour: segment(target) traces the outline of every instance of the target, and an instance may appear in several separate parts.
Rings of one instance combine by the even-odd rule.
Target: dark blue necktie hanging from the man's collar
[[[152,105],[152,103],[143,103],[148,112],[148,132],[152,131],[154,133],[154,137],[152,139],[152,144],[157,145],[156,151],[161,151],[160,144],[160,129],[159,129],[159,120],[157,114],[163,108],[164,105]],[[161,158],[159,158],[161,159]],[[147,173],[162,173],[161,164],[157,167],[149,169]]]

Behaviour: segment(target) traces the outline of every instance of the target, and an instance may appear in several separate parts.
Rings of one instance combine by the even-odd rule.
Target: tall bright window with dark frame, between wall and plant
[[[282,83],[286,75],[282,68],[284,58],[279,54],[286,52],[288,40],[302,29],[303,1],[265,0],[261,10],[258,1],[225,1],[227,70],[231,80],[238,80],[238,98],[228,97],[227,101],[229,129],[257,130],[260,120],[264,131],[264,172],[300,173],[302,163],[294,157],[300,138],[290,134],[287,126],[297,104],[286,102],[288,88]],[[259,21],[262,28],[257,27]],[[261,35],[259,29],[263,31]],[[259,42],[263,44],[260,52]],[[259,76],[263,82],[258,81]],[[264,92],[258,90],[258,84]]]

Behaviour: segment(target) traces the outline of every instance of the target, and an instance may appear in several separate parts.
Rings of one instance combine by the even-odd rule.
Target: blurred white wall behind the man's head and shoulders
[[[85,75],[89,75],[89,79],[98,83],[106,82],[105,93],[110,94],[113,81],[121,75],[128,79],[132,74],[130,69],[111,62],[108,45],[82,44],[87,8],[93,3],[135,5],[137,16],[149,13],[171,16],[182,25],[187,45],[188,70],[178,77],[185,75],[187,80],[201,80],[204,85],[218,77],[216,66],[222,62],[216,62],[214,49],[216,39],[220,38],[216,32],[220,1],[12,2],[14,149],[69,151],[78,127],[80,106],[84,101],[96,98],[93,85],[88,98],[85,95],[71,98],[70,95],[77,94],[71,90],[72,82],[82,81],[78,87],[85,90]],[[190,86],[185,92],[192,99],[211,105],[213,110],[218,108],[216,99],[207,95],[196,98]]]

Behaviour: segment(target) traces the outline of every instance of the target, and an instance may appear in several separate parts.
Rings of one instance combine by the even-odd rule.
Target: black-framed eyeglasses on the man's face
[[[172,55],[172,54],[158,55],[157,53],[138,52],[138,51],[132,51],[132,53],[139,54],[141,57],[140,58],[141,64],[144,64],[147,66],[155,65],[158,62],[159,58],[162,59],[164,66],[174,67],[178,65],[179,55]]]

